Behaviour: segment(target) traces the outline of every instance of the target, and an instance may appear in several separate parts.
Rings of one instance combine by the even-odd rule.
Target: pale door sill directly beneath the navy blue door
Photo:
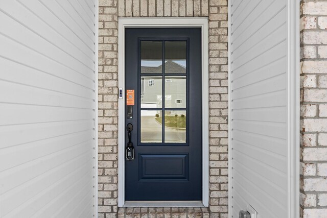
[[[123,207],[204,207],[202,201],[125,201]]]

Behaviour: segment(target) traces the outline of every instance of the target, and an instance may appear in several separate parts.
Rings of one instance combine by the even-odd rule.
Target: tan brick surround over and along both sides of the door
[[[118,212],[118,16],[209,17],[212,217],[227,217],[227,0],[99,0],[99,217]]]

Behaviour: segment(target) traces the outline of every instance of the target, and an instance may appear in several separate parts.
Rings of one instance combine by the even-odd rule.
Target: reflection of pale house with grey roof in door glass
[[[180,73],[185,67],[173,61],[165,63],[166,72]],[[155,73],[156,69],[161,71],[161,65],[157,67],[145,67],[143,70]],[[186,76],[165,77],[165,108],[186,107]],[[162,107],[162,77],[141,76],[141,107]]]

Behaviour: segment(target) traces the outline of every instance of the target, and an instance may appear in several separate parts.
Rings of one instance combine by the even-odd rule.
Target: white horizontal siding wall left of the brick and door
[[[0,1],[0,217],[92,217],[95,3]]]

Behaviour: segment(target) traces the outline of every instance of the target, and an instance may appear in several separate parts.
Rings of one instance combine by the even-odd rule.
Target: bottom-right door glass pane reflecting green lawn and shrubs
[[[165,111],[165,142],[166,143],[186,142],[186,111],[185,110]]]

